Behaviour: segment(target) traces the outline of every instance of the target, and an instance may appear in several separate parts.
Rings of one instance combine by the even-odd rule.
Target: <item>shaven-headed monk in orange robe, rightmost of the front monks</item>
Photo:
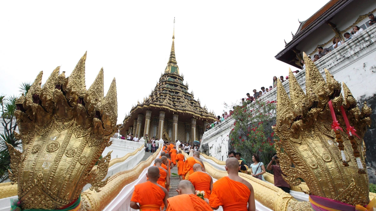
[[[238,175],[238,159],[227,158],[225,168],[229,176],[214,182],[209,205],[215,210],[222,206],[223,211],[255,211],[253,187]]]

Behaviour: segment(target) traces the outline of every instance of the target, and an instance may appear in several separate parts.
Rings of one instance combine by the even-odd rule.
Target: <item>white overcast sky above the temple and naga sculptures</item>
[[[301,1],[1,1],[0,93],[68,76],[86,59],[86,88],[101,67],[105,93],[116,78],[118,123],[155,87],[170,55],[173,19],[180,73],[202,106],[220,115],[253,89],[288,75],[274,56],[300,21],[328,0]],[[296,69],[296,68],[293,68]]]

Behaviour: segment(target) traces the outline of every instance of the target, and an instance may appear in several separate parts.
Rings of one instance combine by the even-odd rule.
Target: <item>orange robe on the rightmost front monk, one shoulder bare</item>
[[[223,211],[247,211],[250,194],[251,191],[247,185],[225,176],[214,182],[209,205],[211,207],[222,206]]]

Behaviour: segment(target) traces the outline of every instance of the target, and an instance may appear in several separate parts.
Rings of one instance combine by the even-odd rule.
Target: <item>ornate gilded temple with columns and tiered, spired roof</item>
[[[170,58],[159,82],[148,98],[132,107],[124,118],[120,134],[133,133],[139,137],[148,134],[148,137],[168,141],[193,142],[203,136],[206,125],[215,119],[214,113],[202,107],[200,101],[194,99],[193,92],[188,92],[188,83],[183,83],[174,39],[173,33]]]

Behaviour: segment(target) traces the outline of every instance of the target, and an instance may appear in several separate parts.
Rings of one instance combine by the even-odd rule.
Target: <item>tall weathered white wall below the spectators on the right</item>
[[[356,36],[344,45],[338,47],[331,53],[315,62],[315,65],[325,78],[324,68],[327,68],[334,78],[339,82],[345,82],[350,88],[353,96],[358,100],[359,106],[366,100],[368,106],[373,109],[371,116],[372,125],[364,137],[367,146],[367,166],[368,173],[374,174],[376,170],[376,26],[371,26],[364,30],[361,35]],[[288,75],[288,70],[285,70]],[[298,83],[305,90],[305,70],[295,75]],[[284,87],[289,94],[288,81],[284,82]],[[262,100],[276,100],[276,89],[272,89]],[[234,120],[226,119],[203,135],[201,151],[217,158],[226,160],[228,152],[228,135],[232,129]],[[226,146],[226,147],[224,147]],[[371,182],[376,182],[372,180]]]

